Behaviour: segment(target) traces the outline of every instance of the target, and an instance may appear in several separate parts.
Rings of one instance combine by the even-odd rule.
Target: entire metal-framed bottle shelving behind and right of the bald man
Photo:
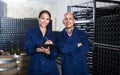
[[[119,75],[120,2],[93,0],[68,6],[68,11],[74,14],[75,27],[88,35],[90,75]]]

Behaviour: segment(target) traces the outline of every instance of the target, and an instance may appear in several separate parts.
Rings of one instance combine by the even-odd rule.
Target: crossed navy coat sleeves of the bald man
[[[82,42],[83,46],[81,47],[78,47],[78,43],[70,43],[69,40],[67,40],[67,42],[65,42],[64,39],[61,39],[61,34],[58,36],[58,45],[59,45],[59,50],[66,54],[66,53],[87,53],[89,50],[90,50],[90,47],[89,47],[89,42],[88,42],[88,39],[87,39],[87,36],[84,32],[80,32],[78,35],[81,36],[80,38],[80,42]],[[76,38],[77,39],[77,38]]]

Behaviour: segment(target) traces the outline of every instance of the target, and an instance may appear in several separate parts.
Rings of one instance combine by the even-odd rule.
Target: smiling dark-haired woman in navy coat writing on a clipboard
[[[43,10],[39,14],[39,26],[30,29],[24,43],[24,50],[30,56],[27,75],[59,75],[55,59],[58,51],[55,47],[44,47],[54,44],[54,33],[48,29],[51,14]]]

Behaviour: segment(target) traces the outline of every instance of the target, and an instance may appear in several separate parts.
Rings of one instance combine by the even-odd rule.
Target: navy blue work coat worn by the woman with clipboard
[[[24,50],[30,56],[27,75],[59,75],[55,61],[58,57],[58,50],[50,47],[50,55],[36,52],[36,47],[44,44],[46,38],[53,42],[56,41],[54,33],[49,29],[44,37],[39,27],[32,28],[27,32],[24,43]]]

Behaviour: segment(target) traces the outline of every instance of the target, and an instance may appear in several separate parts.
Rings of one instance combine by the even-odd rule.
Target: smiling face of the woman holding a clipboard
[[[46,26],[50,22],[50,16],[47,13],[43,13],[38,20],[39,20],[39,25],[43,28],[46,28]]]

